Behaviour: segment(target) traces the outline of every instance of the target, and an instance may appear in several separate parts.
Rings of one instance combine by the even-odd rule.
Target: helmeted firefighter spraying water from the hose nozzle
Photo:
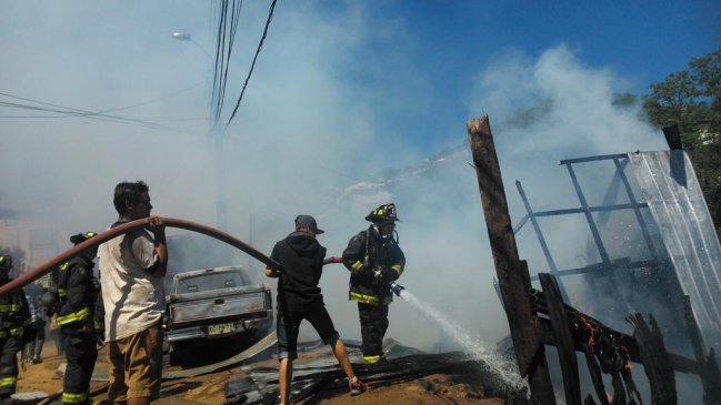
[[[383,336],[388,330],[388,305],[393,301],[390,283],[403,274],[405,256],[398,245],[395,205],[371,211],[372,224],[348,242],[343,264],[350,270],[350,300],[358,302],[363,360],[375,364],[385,360]]]

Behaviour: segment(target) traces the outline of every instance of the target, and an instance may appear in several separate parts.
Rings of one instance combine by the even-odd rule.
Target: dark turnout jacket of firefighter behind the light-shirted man
[[[60,266],[58,272],[58,326],[92,325],[103,330],[104,308],[100,283],[92,274],[92,260],[78,255]]]

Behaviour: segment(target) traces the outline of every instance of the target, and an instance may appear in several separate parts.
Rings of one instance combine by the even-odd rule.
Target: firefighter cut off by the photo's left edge
[[[0,285],[12,279],[12,257],[0,254]],[[18,382],[18,352],[32,340],[37,331],[32,324],[30,306],[22,288],[0,297],[0,399],[10,398]]]

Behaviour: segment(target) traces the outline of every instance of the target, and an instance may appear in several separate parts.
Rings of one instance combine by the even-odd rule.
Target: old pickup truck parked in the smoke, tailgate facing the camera
[[[258,338],[273,325],[270,285],[252,284],[240,265],[178,273],[167,302],[164,327],[171,363],[178,363],[173,357],[179,360],[178,352],[189,344],[197,346],[227,337]]]

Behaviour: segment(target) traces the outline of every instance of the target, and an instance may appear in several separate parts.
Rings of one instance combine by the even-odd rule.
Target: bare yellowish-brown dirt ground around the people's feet
[[[42,351],[43,362],[40,364],[21,365],[18,375],[18,393],[46,393],[50,396],[56,394],[58,399],[44,402],[46,404],[60,404],[59,393],[62,391],[62,375],[60,371],[64,357],[57,355],[54,343],[47,341]],[[96,374],[107,376],[108,363],[104,350],[100,351]],[[239,367],[208,374],[198,377],[179,378],[164,381],[161,389],[161,398],[153,402],[156,405],[220,405],[226,403],[224,385],[244,375]],[[104,394],[107,382],[91,382],[91,395],[94,404],[102,404],[107,398]],[[39,395],[39,394],[38,394]],[[34,402],[41,402],[36,399]],[[30,402],[32,403],[32,402]],[[23,402],[23,404],[26,404]],[[299,405],[435,405],[435,404],[503,404],[502,399],[484,398],[479,388],[470,384],[449,381],[449,376],[435,374],[420,379],[393,384],[389,386],[370,387],[362,395],[351,397],[348,393],[338,396],[316,401],[307,399],[299,402]]]

